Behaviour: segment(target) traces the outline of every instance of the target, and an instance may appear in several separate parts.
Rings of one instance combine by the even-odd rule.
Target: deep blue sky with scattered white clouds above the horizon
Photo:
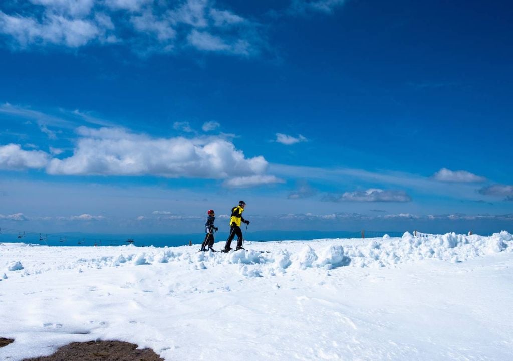
[[[511,13],[3,1],[0,226],[511,231]]]

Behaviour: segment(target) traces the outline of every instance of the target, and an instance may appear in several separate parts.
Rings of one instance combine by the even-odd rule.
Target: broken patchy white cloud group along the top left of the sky
[[[136,53],[201,51],[255,55],[265,47],[257,23],[210,0],[30,0],[2,9],[0,34],[15,49],[128,46]],[[7,11],[9,9],[10,11]]]

